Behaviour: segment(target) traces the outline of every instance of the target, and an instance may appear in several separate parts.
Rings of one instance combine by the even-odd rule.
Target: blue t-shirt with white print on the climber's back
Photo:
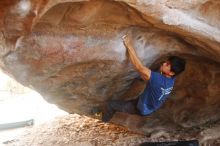
[[[168,78],[158,72],[151,71],[149,82],[139,96],[137,108],[142,115],[157,110],[167,99],[173,89],[175,78]]]

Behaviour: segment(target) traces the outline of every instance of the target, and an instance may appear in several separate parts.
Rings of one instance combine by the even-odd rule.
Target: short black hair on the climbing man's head
[[[171,71],[175,73],[174,76],[180,74],[185,70],[186,61],[183,58],[177,56],[170,56],[168,61],[171,64]]]

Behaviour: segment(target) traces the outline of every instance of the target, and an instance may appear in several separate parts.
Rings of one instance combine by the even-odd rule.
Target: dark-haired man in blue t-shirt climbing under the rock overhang
[[[138,98],[129,101],[111,100],[104,106],[102,121],[108,122],[115,112],[127,112],[130,114],[149,115],[156,111],[171,93],[175,78],[185,69],[185,60],[170,56],[160,65],[159,72],[145,67],[138,58],[131,39],[131,34],[123,37],[128,56],[137,72],[144,81],[148,81],[144,91]]]

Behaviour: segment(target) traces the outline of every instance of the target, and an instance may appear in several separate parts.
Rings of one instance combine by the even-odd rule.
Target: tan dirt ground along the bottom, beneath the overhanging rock
[[[220,145],[219,124],[197,136],[201,146]],[[166,135],[166,133],[165,133]],[[172,134],[170,134],[172,135]],[[191,136],[171,137],[158,132],[147,136],[123,126],[98,119],[69,114],[55,118],[3,142],[5,146],[137,146],[143,142],[190,140]]]

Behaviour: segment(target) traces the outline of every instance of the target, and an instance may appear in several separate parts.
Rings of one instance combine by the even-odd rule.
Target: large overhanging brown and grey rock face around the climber
[[[119,113],[113,122],[145,132],[201,128],[220,119],[219,8],[219,0],[1,0],[0,67],[49,102],[90,115],[145,85],[121,39],[131,32],[146,66],[174,54],[187,67],[158,112],[135,120]]]

